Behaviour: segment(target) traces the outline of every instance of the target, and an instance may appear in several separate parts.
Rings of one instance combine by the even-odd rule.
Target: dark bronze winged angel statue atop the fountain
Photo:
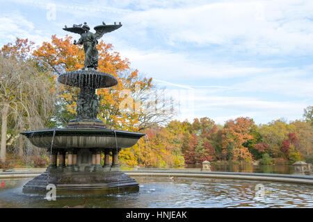
[[[74,44],[83,44],[83,50],[85,51],[85,62],[83,65],[83,69],[97,69],[98,67],[98,51],[97,44],[99,38],[101,38],[104,33],[110,33],[111,31],[115,31],[120,28],[122,24],[116,24],[114,22],[113,25],[106,25],[102,22],[102,25],[95,26],[95,33],[90,32],[90,28],[86,22],[80,25],[73,25],[71,28],[63,28],[65,31],[69,31],[71,33],[77,33],[81,35],[78,41],[74,40]]]

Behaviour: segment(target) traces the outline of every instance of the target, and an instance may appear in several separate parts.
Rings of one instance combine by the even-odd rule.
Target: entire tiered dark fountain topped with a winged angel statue
[[[77,118],[72,119],[66,128],[22,133],[33,145],[46,148],[50,152],[49,167],[24,185],[24,194],[45,195],[49,184],[56,186],[58,196],[93,196],[139,190],[138,182],[120,171],[118,153],[121,148],[134,146],[145,134],[107,129],[104,122],[97,119],[101,98],[98,98],[95,90],[118,84],[114,76],[96,71],[97,40],[104,33],[121,26],[122,24],[106,25],[103,22],[102,25],[95,26],[96,33],[89,31],[86,22],[83,26],[63,28],[81,35],[78,42],[74,40],[74,44],[83,44],[85,51],[83,69],[67,71],[57,79],[59,83],[80,88],[77,99],[73,97],[77,103]],[[102,152],[104,166],[101,165]]]

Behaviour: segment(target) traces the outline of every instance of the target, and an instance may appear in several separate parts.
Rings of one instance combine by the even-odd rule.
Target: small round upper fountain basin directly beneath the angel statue
[[[90,87],[94,89],[118,84],[118,80],[114,76],[95,70],[67,71],[58,76],[58,82],[74,87]]]

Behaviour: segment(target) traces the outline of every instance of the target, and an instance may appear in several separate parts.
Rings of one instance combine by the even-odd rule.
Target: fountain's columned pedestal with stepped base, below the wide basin
[[[120,171],[120,149],[104,149],[104,167],[100,149],[76,148],[51,153],[49,167],[23,187],[25,194],[47,194],[47,185],[56,186],[57,196],[95,196],[120,192],[136,192],[138,182]],[[112,153],[112,164],[109,155]],[[58,164],[57,164],[58,159]],[[67,164],[66,164],[67,162]]]

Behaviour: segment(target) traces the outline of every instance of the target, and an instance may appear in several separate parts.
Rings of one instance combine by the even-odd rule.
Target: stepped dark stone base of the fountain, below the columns
[[[47,169],[23,187],[24,194],[47,194],[56,185],[56,196],[102,196],[139,191],[138,182],[122,171],[60,172]]]

